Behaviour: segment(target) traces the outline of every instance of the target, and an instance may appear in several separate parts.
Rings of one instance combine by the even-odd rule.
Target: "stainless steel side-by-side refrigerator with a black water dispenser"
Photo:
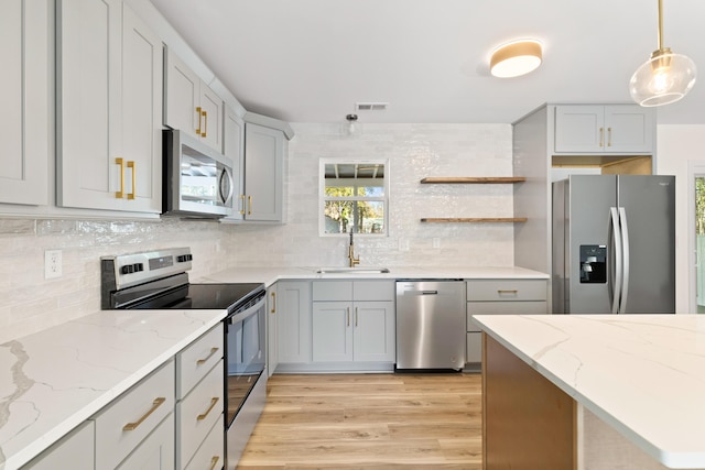
[[[553,183],[553,313],[675,311],[675,177]]]

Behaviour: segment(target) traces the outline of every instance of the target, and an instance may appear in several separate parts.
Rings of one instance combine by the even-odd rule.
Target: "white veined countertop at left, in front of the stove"
[[[98,311],[0,345],[0,470],[26,463],[225,315]]]

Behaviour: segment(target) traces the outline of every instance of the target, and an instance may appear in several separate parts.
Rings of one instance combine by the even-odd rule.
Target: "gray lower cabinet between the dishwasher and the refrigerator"
[[[473,323],[474,315],[545,315],[547,281],[545,280],[471,280],[467,281],[466,362],[482,361],[482,337]]]

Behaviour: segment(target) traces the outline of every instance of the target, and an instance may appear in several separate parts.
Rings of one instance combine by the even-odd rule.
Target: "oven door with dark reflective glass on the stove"
[[[265,296],[225,319],[226,428],[232,426],[265,367]]]

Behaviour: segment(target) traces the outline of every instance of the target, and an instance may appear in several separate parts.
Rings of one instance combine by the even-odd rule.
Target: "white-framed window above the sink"
[[[387,234],[389,165],[321,160],[321,234]]]

